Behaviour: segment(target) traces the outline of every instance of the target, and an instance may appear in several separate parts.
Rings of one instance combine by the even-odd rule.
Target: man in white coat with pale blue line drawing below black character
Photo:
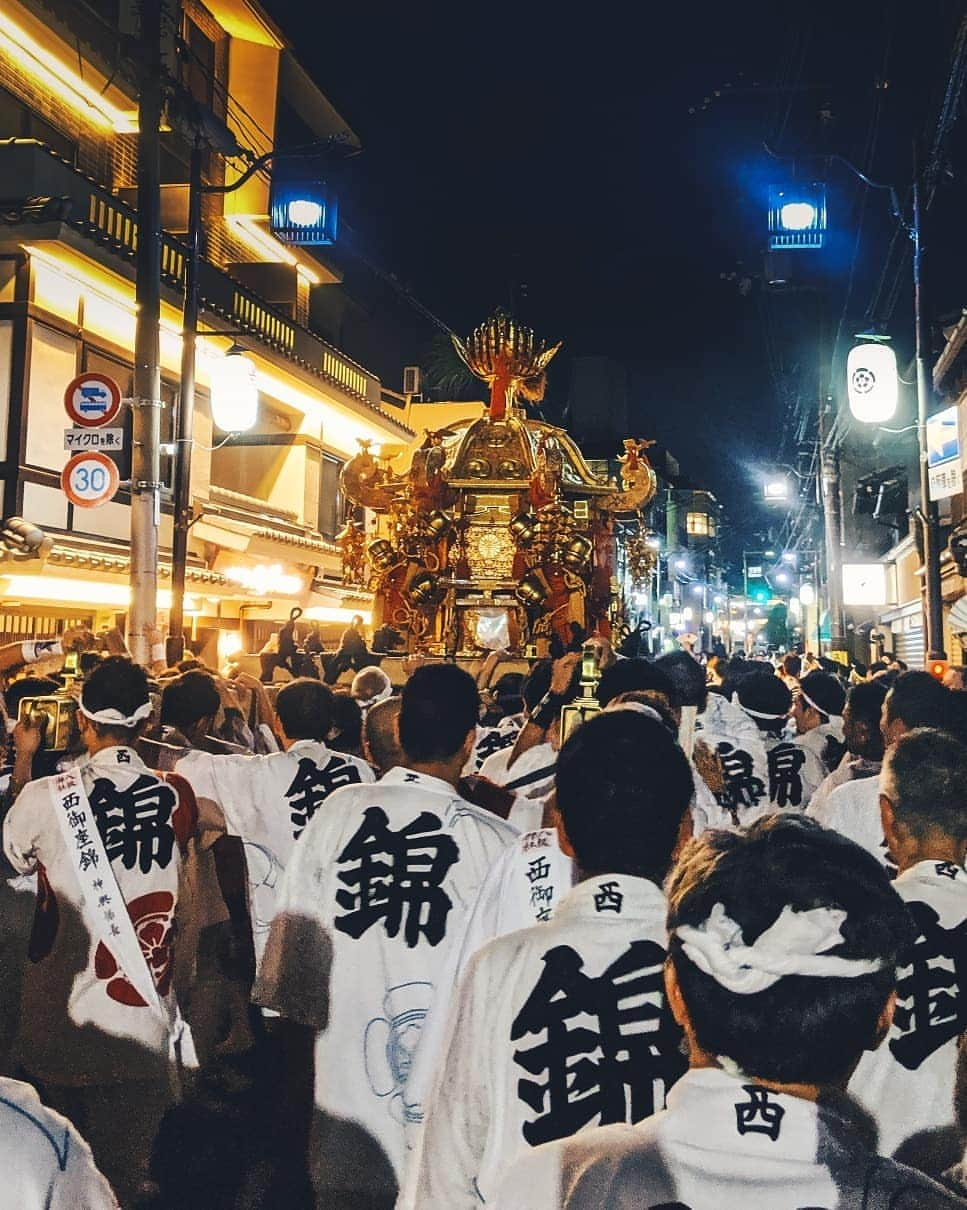
[[[422,1024],[516,835],[456,791],[477,714],[467,673],[419,668],[399,707],[405,764],[332,795],[282,878],[254,998],[282,1016],[278,1116],[327,1210],[393,1205],[421,1116],[408,1077]]]

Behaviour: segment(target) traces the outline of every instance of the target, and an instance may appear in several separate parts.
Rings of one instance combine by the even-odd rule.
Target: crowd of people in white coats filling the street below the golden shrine
[[[963,682],[589,643],[0,649],[0,1205],[966,1205]]]

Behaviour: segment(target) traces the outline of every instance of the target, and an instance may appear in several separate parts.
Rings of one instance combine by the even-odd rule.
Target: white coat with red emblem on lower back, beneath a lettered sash
[[[197,807],[180,778],[152,773],[133,748],[104,748],[77,762],[94,819],[75,814],[74,836],[98,828],[159,993],[171,995],[173,920],[183,851]],[[4,851],[40,876],[35,961],[24,974],[18,1053],[31,1076],[56,1084],[163,1078],[168,1028],[125,978],[102,939],[119,905],[88,903],[53,814],[53,778],[30,782],[4,822]],[[116,926],[115,926],[116,927]]]

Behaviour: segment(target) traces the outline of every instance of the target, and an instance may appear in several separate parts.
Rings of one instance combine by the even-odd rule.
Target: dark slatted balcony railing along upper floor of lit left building
[[[133,263],[138,247],[137,211],[77,172],[42,143],[35,139],[0,139],[0,179],[16,182],[23,200],[69,198],[65,224],[116,257]],[[15,200],[5,196],[4,201],[10,208]],[[184,290],[186,257],[186,246],[165,234],[161,276],[165,284],[178,292]],[[295,323],[209,261],[201,264],[198,286],[202,311],[221,317],[232,327],[244,328],[254,339],[408,432],[397,416],[380,407],[379,379],[340,350]]]

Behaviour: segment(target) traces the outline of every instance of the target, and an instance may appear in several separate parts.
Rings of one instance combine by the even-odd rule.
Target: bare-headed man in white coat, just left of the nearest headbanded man
[[[691,831],[692,793],[675,739],[638,710],[591,719],[564,744],[560,843],[580,881],[548,923],[472,960],[426,1108],[414,1205],[470,1210],[493,1199],[520,1148],[663,1108],[684,1061],[662,985],[661,883]],[[535,876],[542,865],[534,849]]]

